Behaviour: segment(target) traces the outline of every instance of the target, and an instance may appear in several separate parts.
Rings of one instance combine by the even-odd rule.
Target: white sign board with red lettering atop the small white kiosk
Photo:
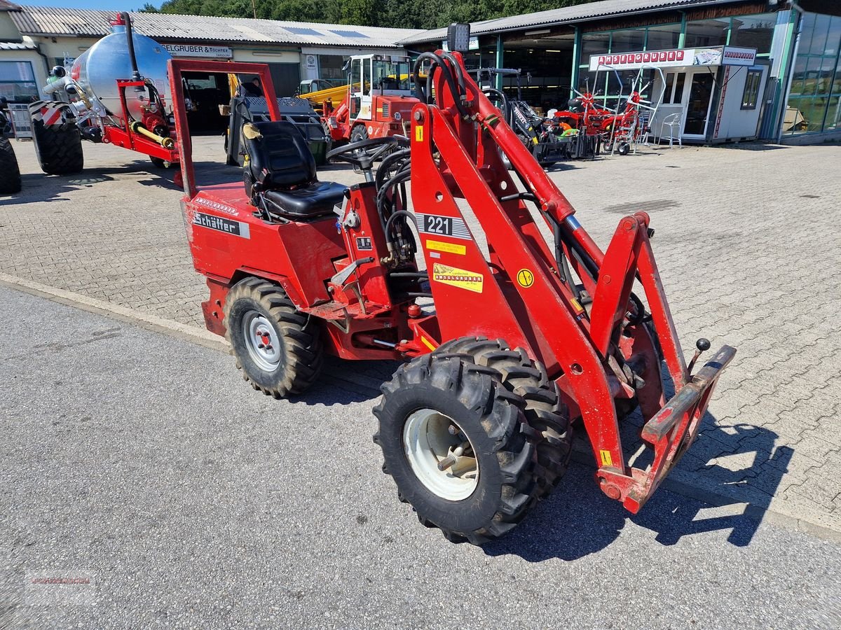
[[[631,52],[621,55],[591,55],[590,71],[637,70],[643,66],[660,68],[676,66],[753,66],[756,49],[733,48],[685,48],[676,50],[653,50]]]

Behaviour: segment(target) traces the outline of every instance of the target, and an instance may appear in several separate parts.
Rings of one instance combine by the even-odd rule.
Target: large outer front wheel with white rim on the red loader
[[[482,544],[521,522],[534,503],[532,429],[523,402],[494,370],[426,354],[401,365],[382,389],[373,440],[383,449],[383,472],[423,525],[452,542]],[[468,444],[459,470],[437,470],[458,444]]]

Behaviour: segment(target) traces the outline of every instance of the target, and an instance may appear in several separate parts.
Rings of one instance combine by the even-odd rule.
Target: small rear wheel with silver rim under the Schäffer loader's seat
[[[300,394],[318,378],[320,329],[280,286],[259,278],[235,284],[225,298],[225,328],[237,369],[267,396]]]

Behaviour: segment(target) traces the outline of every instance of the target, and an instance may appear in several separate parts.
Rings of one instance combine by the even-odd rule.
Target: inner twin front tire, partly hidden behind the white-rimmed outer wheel
[[[526,423],[537,433],[537,465],[534,470],[534,496],[542,499],[558,487],[569,466],[573,428],[569,409],[558,396],[558,386],[546,368],[529,359],[526,351],[509,349],[502,339],[464,337],[442,344],[436,354],[458,355],[499,375],[505,388],[524,402]]]

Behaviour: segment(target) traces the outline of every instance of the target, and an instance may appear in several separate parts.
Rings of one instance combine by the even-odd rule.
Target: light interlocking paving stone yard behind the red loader
[[[0,197],[0,270],[203,326],[172,171],[86,144],[81,176],[45,177],[13,142],[24,191]],[[204,181],[235,174],[218,138],[197,139]],[[552,171],[606,247],[619,219],[651,214],[687,353],[695,340],[738,354],[701,435],[672,479],[841,531],[841,147],[743,145],[643,150]],[[321,179],[358,176],[331,167]],[[340,375],[376,386],[382,370]],[[372,403],[373,404],[373,403]],[[633,438],[633,421],[627,435]]]

